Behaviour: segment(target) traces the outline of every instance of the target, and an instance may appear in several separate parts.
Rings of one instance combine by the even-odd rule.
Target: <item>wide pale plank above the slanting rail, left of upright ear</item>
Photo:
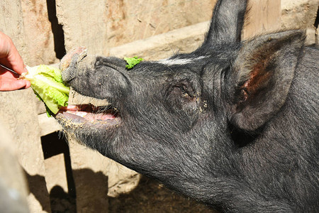
[[[108,0],[110,48],[209,21],[216,0]]]

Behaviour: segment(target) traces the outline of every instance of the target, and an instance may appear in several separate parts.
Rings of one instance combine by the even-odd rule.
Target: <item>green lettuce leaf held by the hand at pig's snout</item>
[[[63,84],[59,69],[40,65],[27,67],[27,70],[28,73],[22,78],[30,81],[35,94],[45,103],[48,116],[57,114],[61,107],[67,107],[69,87]]]

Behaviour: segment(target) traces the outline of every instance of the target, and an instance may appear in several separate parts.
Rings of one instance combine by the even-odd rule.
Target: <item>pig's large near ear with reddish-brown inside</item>
[[[232,124],[254,131],[281,109],[305,38],[304,31],[286,31],[243,44],[233,65]]]

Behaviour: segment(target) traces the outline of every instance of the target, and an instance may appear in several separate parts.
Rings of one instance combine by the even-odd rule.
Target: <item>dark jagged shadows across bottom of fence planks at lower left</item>
[[[101,210],[101,205],[108,207],[108,203],[105,203],[105,200],[99,199],[99,197],[107,196],[107,192],[104,190],[107,187],[101,187],[101,185],[108,184],[108,178],[103,173],[95,173],[89,169],[74,170],[73,173],[74,177],[80,179],[77,181],[81,182],[77,186],[78,197],[74,191],[71,193],[65,192],[60,185],[52,187],[50,194],[48,194],[43,176],[26,173],[30,193],[40,202],[43,211],[50,212],[51,207],[52,213],[74,213],[77,212],[77,201],[81,202],[79,204],[80,212],[96,212]],[[50,207],[46,205],[48,196],[50,196]],[[89,211],[85,209],[89,209]]]

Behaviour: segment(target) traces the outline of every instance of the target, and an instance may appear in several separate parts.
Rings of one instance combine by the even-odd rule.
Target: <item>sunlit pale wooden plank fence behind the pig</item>
[[[66,51],[78,45],[85,45],[94,55],[139,55],[157,60],[177,51],[190,52],[201,44],[216,0],[89,2],[3,0],[0,31],[11,36],[30,66],[57,63]],[[318,0],[250,3],[252,11],[244,38],[280,28],[307,28],[307,43],[315,43],[313,24]],[[20,188],[22,195],[28,194],[30,212],[50,212],[49,193],[55,186],[72,194],[70,185],[74,185],[78,212],[107,212],[108,196],[116,197],[138,185],[140,175],[76,141],[69,141],[69,153],[46,156],[43,146],[54,150],[57,143],[48,143],[45,137],[60,126],[46,117],[43,103],[37,101],[32,89],[0,92],[0,106],[0,120],[12,136],[15,155],[27,180],[29,192]],[[2,135],[0,139],[9,140]],[[72,169],[74,183],[67,178],[67,167]],[[1,168],[0,175],[4,175]]]

